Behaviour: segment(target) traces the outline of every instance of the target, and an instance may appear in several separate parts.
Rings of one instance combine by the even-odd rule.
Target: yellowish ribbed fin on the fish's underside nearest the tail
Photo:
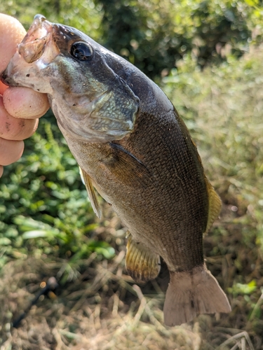
[[[147,282],[155,279],[161,268],[160,256],[141,243],[133,240],[128,233],[126,269],[135,282]]]

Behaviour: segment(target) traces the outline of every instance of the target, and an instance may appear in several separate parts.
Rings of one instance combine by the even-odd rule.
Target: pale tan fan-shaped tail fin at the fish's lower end
[[[205,266],[187,272],[170,272],[163,307],[166,325],[189,322],[198,314],[230,311],[227,295]]]

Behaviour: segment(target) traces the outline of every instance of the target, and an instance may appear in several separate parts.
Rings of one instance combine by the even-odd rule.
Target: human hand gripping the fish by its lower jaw
[[[14,55],[26,31],[15,18],[0,13],[0,75]],[[24,151],[24,139],[32,136],[38,118],[48,111],[46,94],[27,87],[7,87],[0,81],[0,177],[4,165],[16,162]]]

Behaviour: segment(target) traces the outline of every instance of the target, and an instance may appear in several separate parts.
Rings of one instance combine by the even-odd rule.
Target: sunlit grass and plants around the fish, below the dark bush
[[[262,60],[263,49],[251,48],[240,61],[230,57],[202,72],[182,62],[163,80],[222,198],[204,250],[231,314],[163,325],[166,266],[155,281],[134,285],[123,262],[125,228],[107,204],[102,222],[94,218],[67,147],[41,120],[0,187],[0,238],[7,239],[0,249],[1,350],[263,349]],[[32,196],[22,202],[21,183]],[[28,233],[41,230],[42,237]],[[58,288],[13,328],[50,276]]]

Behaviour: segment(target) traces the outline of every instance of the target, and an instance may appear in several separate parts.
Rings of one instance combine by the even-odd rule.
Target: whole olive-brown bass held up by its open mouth
[[[135,282],[155,279],[166,262],[164,323],[230,312],[203,256],[221,200],[161,88],[78,29],[43,15],[1,80],[48,94],[95,214],[102,216],[99,194],[127,228],[126,269]]]

